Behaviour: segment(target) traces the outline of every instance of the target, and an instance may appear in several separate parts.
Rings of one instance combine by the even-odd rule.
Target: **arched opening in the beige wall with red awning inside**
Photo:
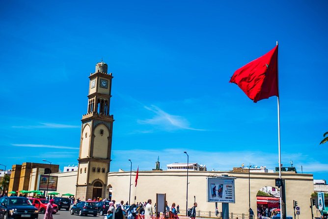
[[[256,194],[257,218],[271,218],[280,212],[280,191],[271,186],[260,189]]]

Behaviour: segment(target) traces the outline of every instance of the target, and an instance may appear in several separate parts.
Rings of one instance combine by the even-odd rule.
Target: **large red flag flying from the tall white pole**
[[[254,103],[279,96],[278,45],[235,71],[230,82],[236,83]]]

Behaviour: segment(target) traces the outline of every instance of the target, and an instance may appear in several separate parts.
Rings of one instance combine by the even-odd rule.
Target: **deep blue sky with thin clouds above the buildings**
[[[281,161],[328,180],[327,1],[5,1],[0,164],[78,164],[88,76],[113,73],[111,171],[278,165],[276,97],[234,71],[279,41]]]

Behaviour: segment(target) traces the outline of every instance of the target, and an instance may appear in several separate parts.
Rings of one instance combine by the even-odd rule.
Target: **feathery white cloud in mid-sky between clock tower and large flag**
[[[154,117],[151,119],[137,120],[140,124],[150,124],[156,125],[164,128],[165,130],[178,130],[187,129],[194,131],[205,131],[203,129],[192,128],[187,119],[178,115],[171,115],[157,106],[151,105],[150,107],[144,106],[147,109],[155,113]]]

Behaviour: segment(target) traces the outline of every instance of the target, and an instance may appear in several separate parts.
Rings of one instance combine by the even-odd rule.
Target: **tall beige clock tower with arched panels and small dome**
[[[112,74],[108,65],[96,64],[89,76],[87,113],[82,116],[79,169],[76,197],[87,200],[106,197],[107,175],[110,165],[113,115],[109,114]]]

